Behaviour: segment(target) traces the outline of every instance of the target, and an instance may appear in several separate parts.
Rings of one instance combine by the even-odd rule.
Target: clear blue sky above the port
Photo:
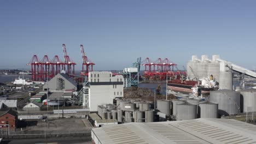
[[[256,66],[256,1],[0,0],[0,69],[29,68],[33,55],[63,60],[62,44],[82,69],[80,44],[96,70],[123,69],[137,57],[219,54]]]

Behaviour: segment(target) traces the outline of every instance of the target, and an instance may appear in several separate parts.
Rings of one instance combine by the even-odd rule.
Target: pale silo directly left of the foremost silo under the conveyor
[[[219,63],[211,62],[208,63],[207,77],[213,76],[217,82],[219,82]]]

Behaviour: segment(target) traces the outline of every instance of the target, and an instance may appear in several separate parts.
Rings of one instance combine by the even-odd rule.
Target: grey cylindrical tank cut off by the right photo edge
[[[241,92],[241,106],[243,105],[243,112],[256,111],[256,89],[243,89]],[[242,108],[242,107],[241,107]]]

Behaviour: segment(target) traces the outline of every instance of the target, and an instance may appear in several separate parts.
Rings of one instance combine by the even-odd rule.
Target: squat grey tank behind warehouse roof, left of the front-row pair
[[[177,104],[176,120],[182,121],[197,118],[196,107],[196,105],[190,103]]]

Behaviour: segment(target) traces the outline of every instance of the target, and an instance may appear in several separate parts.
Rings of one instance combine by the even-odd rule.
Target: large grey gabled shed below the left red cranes
[[[68,77],[65,71],[62,71],[62,73],[57,74],[53,79],[45,83],[43,86],[44,91],[47,91],[47,88],[51,92],[65,91],[66,89],[77,91],[77,83],[71,77]]]

